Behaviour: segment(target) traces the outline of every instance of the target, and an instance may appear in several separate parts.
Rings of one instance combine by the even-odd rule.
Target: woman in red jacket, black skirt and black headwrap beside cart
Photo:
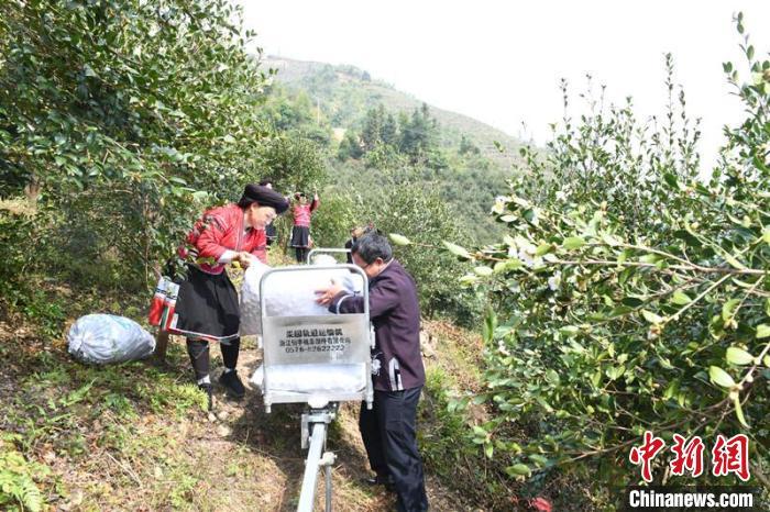
[[[240,349],[238,293],[224,266],[239,261],[246,268],[255,260],[267,263],[265,227],[288,209],[279,193],[248,185],[238,203],[204,213],[180,247],[188,261],[187,279],[179,285],[169,332],[187,337],[187,352],[198,387],[211,394],[209,341],[220,343],[224,372],[219,381],[235,398],[245,388],[235,365]]]

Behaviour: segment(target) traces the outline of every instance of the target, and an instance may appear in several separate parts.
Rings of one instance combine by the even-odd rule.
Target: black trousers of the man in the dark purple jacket
[[[417,402],[422,387],[404,391],[374,391],[374,408],[361,404],[359,428],[369,464],[389,477],[398,494],[398,510],[428,510],[422,459],[417,450]]]

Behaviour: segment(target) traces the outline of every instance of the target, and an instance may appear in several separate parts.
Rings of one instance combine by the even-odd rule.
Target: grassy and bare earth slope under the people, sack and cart
[[[233,402],[218,389],[217,413],[209,414],[180,338],[165,365],[91,367],[68,356],[68,322],[105,310],[141,320],[144,302],[51,286],[31,311],[0,311],[0,509],[294,510],[306,457],[301,407],[265,414],[256,391]],[[426,322],[420,442],[432,510],[508,509],[480,501],[488,479],[479,487],[469,459],[477,454],[457,449],[452,436],[464,435],[462,422],[444,413],[448,392],[477,385],[479,344],[449,324]],[[221,367],[218,349],[213,355],[212,367]],[[239,372],[251,375],[258,361],[246,340]],[[343,405],[329,436],[338,456],[334,509],[392,510],[392,494],[360,482],[367,464],[356,419],[355,404]],[[321,486],[319,479],[319,510]]]

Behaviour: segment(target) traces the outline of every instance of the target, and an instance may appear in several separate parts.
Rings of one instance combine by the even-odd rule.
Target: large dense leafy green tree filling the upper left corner
[[[2,194],[26,187],[36,236],[80,265],[148,277],[205,204],[258,177],[252,35],[226,0],[4,1]]]

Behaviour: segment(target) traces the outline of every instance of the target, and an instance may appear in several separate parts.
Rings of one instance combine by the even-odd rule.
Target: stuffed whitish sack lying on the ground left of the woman
[[[143,359],[155,352],[155,338],[140,324],[113,314],[79,318],[67,334],[69,354],[82,363],[107,365]]]

